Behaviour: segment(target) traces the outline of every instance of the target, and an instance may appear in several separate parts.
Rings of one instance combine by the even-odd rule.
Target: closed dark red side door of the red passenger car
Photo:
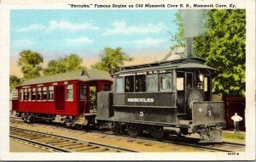
[[[65,109],[65,86],[55,87],[55,109],[64,110]]]

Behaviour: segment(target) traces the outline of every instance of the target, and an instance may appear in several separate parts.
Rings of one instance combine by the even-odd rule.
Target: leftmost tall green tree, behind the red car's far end
[[[30,79],[40,76],[42,70],[41,63],[44,62],[44,58],[40,53],[31,50],[24,50],[20,53],[18,65],[23,73],[23,79]]]

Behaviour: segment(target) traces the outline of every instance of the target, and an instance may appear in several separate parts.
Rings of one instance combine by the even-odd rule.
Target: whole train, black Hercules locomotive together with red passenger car
[[[102,70],[43,76],[17,87],[13,110],[26,122],[108,124],[114,134],[147,131],[156,139],[199,133],[201,142],[221,142],[224,103],[210,101],[215,72],[204,59],[188,57],[126,66],[113,78]],[[96,102],[90,87],[96,87]]]

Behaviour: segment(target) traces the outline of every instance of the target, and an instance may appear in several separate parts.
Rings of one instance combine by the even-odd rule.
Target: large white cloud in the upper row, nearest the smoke
[[[158,24],[147,24],[147,25],[127,25],[125,21],[115,21],[112,24],[113,28],[105,29],[103,35],[116,35],[116,34],[147,34],[147,33],[158,33],[164,29],[166,26]]]

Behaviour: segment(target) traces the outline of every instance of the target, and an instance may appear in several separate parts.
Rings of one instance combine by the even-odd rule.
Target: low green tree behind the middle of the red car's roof
[[[55,75],[59,73],[65,73],[74,70],[84,70],[84,66],[81,66],[83,59],[79,58],[77,54],[70,54],[64,58],[58,60],[51,60],[45,68],[44,75]]]

